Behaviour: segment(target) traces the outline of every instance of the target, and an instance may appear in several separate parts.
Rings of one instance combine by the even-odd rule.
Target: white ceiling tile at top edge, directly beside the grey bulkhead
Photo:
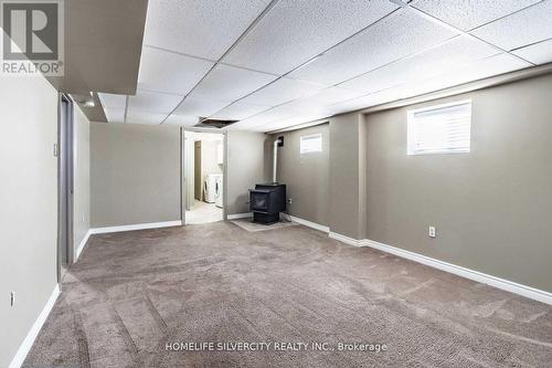
[[[220,59],[270,0],[153,0],[144,43]]]

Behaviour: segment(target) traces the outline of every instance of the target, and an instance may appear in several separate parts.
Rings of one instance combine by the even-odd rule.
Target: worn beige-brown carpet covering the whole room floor
[[[552,361],[551,306],[304,227],[248,232],[216,222],[93,235],[62,288],[24,367]],[[167,349],[168,343],[240,341],[270,348]],[[339,351],[340,343],[386,349]]]

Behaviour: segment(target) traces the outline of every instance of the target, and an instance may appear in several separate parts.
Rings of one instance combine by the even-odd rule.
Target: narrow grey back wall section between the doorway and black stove
[[[226,214],[250,211],[248,189],[266,181],[263,133],[229,130],[226,137]]]

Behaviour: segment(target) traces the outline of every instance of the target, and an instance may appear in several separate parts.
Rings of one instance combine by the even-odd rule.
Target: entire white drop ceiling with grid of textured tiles
[[[110,123],[272,132],[552,62],[552,0],[149,1]]]

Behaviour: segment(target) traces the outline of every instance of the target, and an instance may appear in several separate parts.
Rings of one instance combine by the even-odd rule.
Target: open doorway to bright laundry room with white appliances
[[[182,130],[184,224],[224,220],[225,134]]]

